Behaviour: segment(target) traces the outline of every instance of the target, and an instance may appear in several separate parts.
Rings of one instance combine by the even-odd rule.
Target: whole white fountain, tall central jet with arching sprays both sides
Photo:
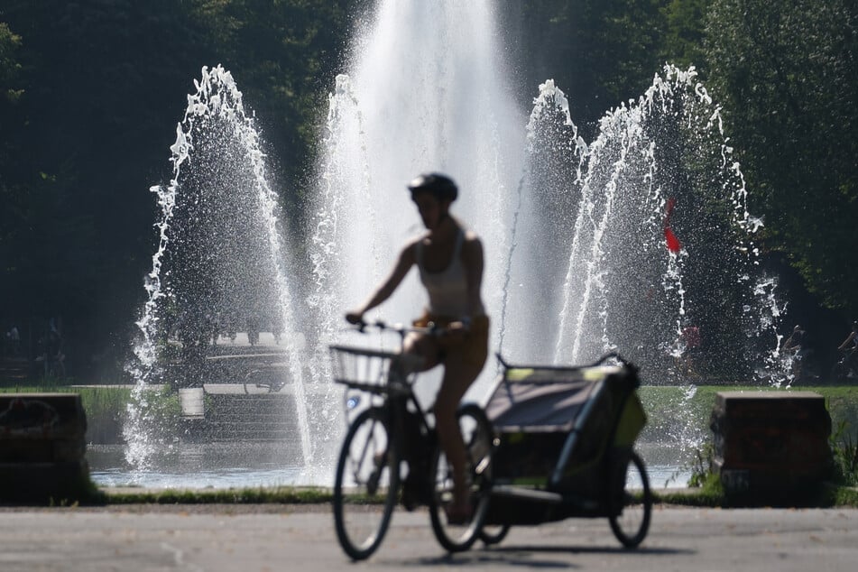
[[[174,177],[152,189],[161,243],[138,324],[130,463],[145,470],[151,457],[144,388],[163,377],[171,323],[197,320],[196,331],[207,323],[202,309],[223,317],[253,308],[291,325],[300,308],[312,327],[287,335],[302,466],[289,478],[327,484],[344,429],[327,346],[395,249],[421,232],[404,184],[422,171],[459,184],[453,210],[483,237],[492,346],[509,359],[580,364],[618,350],[641,365],[645,383],[687,383],[678,364],[695,327],[704,339],[696,366],[707,376],[751,381],[755,364],[780,363],[784,306],[759,271],[761,221],[747,212],[720,108],[695,70],[667,66],[586,143],[551,80],[530,118],[520,111],[496,32],[483,3],[379,3],[329,97],[301,272],[286,272],[294,261],[241,94],[226,70],[203,70],[171,148]],[[423,303],[412,273],[375,317],[407,322]],[[486,366],[467,397],[483,399],[495,371]],[[685,399],[694,391],[687,385]],[[688,449],[701,436],[660,438]]]

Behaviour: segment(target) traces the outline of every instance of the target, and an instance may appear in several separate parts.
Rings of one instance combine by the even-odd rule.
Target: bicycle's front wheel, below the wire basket
[[[399,457],[384,411],[368,409],[346,433],[334,481],[337,540],[350,558],[369,558],[382,543],[399,480]]]

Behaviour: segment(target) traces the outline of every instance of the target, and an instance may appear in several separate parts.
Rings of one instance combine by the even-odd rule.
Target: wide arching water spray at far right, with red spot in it
[[[604,115],[584,161],[570,153],[584,166],[569,180],[580,202],[555,361],[620,349],[645,375],[665,372],[692,327],[720,359],[736,358],[716,375],[742,379],[761,359],[753,338],[777,326],[748,281],[761,221],[748,213],[720,111],[693,68],[666,66],[638,101]]]

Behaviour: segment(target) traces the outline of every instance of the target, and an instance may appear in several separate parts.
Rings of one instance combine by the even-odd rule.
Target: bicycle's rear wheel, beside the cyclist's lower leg
[[[459,408],[458,420],[469,465],[471,506],[474,509],[470,521],[457,524],[447,518],[447,506],[453,501],[453,471],[441,447],[435,450],[429,473],[434,476],[434,492],[429,504],[432,530],[440,545],[450,552],[469,549],[479,538],[492,493],[492,424],[485,417],[484,411],[473,404]]]

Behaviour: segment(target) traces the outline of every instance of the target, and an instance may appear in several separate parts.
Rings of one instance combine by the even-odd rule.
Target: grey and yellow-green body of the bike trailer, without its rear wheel
[[[499,441],[488,523],[607,516],[646,415],[632,364],[503,362],[485,411]],[[621,475],[622,473],[622,475]],[[614,487],[615,488],[615,487]],[[621,486],[622,489],[622,486]]]

